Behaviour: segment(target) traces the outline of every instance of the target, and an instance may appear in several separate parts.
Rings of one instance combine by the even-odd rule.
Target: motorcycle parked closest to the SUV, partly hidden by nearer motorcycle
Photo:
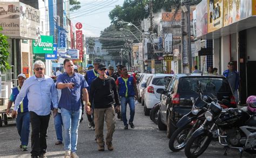
[[[204,113],[207,111],[208,106],[212,101],[218,102],[216,98],[211,98],[208,95],[203,95],[199,90],[200,96],[194,100],[191,98],[193,106],[190,113],[184,115],[177,122],[177,129],[172,134],[169,140],[169,148],[173,152],[179,152],[179,150],[185,148],[188,139],[190,139],[192,133],[200,127],[201,123],[204,122]],[[221,100],[221,106],[228,108],[230,101],[223,99]],[[217,138],[217,132],[214,134],[214,138]]]

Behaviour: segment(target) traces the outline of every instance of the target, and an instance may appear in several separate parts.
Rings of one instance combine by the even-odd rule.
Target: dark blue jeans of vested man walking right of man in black
[[[124,125],[127,125],[127,119],[126,119],[126,106],[129,104],[130,106],[130,119],[129,123],[133,122],[134,114],[135,114],[135,105],[134,105],[134,97],[121,97],[121,111],[122,111],[122,118]]]

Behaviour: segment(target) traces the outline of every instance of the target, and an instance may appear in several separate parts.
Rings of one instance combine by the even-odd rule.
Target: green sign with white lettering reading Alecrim
[[[53,53],[53,36],[40,36],[33,40],[33,54],[52,54]]]

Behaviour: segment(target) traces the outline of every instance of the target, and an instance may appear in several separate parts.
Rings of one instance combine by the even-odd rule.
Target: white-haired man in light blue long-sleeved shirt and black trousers
[[[28,95],[28,107],[32,126],[32,157],[45,156],[47,148],[46,134],[51,113],[51,101],[53,104],[53,116],[57,114],[58,109],[58,92],[55,83],[52,78],[44,75],[44,68],[44,63],[41,60],[37,60],[33,64],[35,75],[24,81],[21,91],[15,100],[14,110],[11,113],[12,117],[15,118],[19,105],[21,105],[25,96]]]

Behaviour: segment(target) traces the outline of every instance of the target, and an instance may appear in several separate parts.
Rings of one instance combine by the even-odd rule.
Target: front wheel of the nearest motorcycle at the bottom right
[[[205,152],[212,140],[212,135],[207,132],[198,135],[196,138],[191,136],[185,147],[185,155],[189,158],[198,157]]]

